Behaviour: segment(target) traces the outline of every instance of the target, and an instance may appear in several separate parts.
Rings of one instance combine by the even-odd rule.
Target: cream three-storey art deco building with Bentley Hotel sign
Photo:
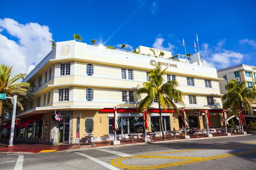
[[[154,50],[159,56],[161,50]],[[212,127],[221,127],[222,95],[218,82],[223,79],[218,78],[216,69],[206,67],[199,53],[186,57],[163,52],[163,57],[154,57],[144,46],[132,52],[75,40],[57,42],[23,80],[31,83],[32,99],[23,104],[25,110],[16,116],[21,123],[15,126],[15,140],[78,143],[79,138],[91,135],[100,141],[102,136],[114,133],[114,107],[119,112],[118,139],[126,138],[128,133],[143,133],[142,113],[137,113],[137,105],[145,96],[137,96],[136,92],[148,81],[148,72],[158,62],[167,67],[166,81],[177,80],[186,104],[174,101],[180,113],[163,111],[164,130],[182,127],[182,107],[186,108],[190,127],[205,127],[204,116],[193,114],[200,111],[204,115],[205,109],[209,109]],[[159,132],[157,103],[147,112],[148,131]],[[9,130],[10,119],[3,123]]]

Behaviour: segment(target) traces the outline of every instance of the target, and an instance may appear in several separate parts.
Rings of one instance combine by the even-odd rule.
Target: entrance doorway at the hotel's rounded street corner
[[[69,133],[70,133],[70,118],[64,118],[64,120],[59,122],[59,143],[69,143]]]

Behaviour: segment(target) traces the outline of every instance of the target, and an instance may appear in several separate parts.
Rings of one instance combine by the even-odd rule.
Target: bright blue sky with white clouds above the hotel
[[[71,40],[78,33],[82,42],[103,43],[115,31],[105,45],[185,54],[184,37],[187,53],[195,53],[197,33],[201,58],[209,66],[256,66],[255,6],[254,0],[1,1],[0,59],[26,72],[50,51],[50,39]]]

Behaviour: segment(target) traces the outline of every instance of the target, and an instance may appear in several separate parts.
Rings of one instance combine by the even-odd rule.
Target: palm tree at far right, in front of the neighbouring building
[[[245,85],[246,81],[238,84],[238,81],[234,79],[231,79],[230,82],[227,83],[227,94],[224,94],[221,98],[224,108],[230,108],[235,113],[237,113],[238,110],[242,111],[244,108],[245,114],[247,110],[250,110],[250,113],[252,114],[252,102],[256,98],[256,88],[254,86],[244,88]],[[248,132],[245,119],[244,123]]]

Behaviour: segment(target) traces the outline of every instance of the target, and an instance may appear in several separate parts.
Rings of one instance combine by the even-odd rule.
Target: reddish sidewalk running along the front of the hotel
[[[239,135],[233,134],[232,136],[221,136],[220,133],[212,133],[213,138],[220,137],[232,137],[232,136],[247,136],[247,135]],[[252,134],[248,134],[252,135]],[[197,140],[197,139],[205,139],[204,134],[198,134],[198,137],[194,134],[189,134],[191,139],[182,139],[181,136],[166,135],[167,140],[163,140],[162,137],[153,137],[153,141],[149,143],[161,143],[161,142],[175,142],[175,141],[187,141],[187,140]],[[146,142],[142,142],[141,139],[134,139],[134,143],[132,143],[131,139],[123,139],[120,140],[119,145],[111,145],[110,141],[105,142],[95,142],[95,146],[91,143],[81,143],[80,148],[79,144],[38,144],[38,143],[22,143],[22,142],[14,142],[13,147],[8,147],[8,142],[0,142],[0,154],[7,153],[42,153],[42,152],[68,152],[68,151],[76,151],[76,150],[87,150],[87,149],[99,149],[99,148],[107,148],[107,147],[121,147],[127,145],[137,145],[137,144],[148,144]]]

